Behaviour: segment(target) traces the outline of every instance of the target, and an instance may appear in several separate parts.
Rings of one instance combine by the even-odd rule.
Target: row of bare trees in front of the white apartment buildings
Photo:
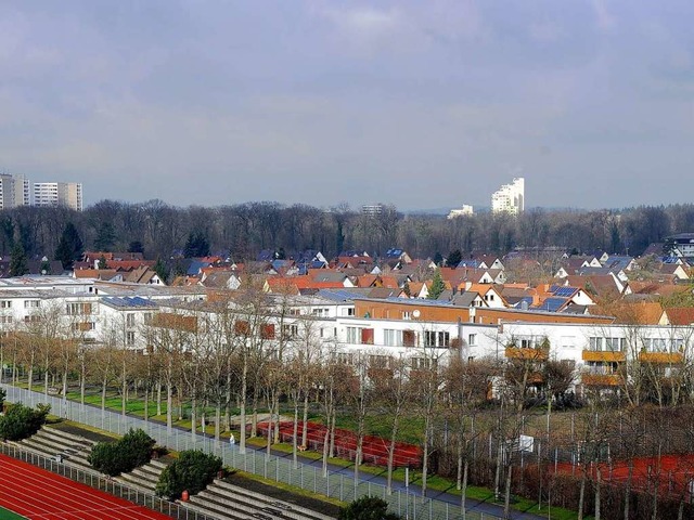
[[[611,408],[601,404],[603,392],[595,391],[583,410],[557,413],[552,403],[562,402],[575,378],[566,364],[532,356],[466,361],[454,349],[426,347],[397,356],[351,353],[323,337],[320,318],[297,317],[288,304],[268,298],[247,292],[233,302],[220,299],[162,311],[140,327],[146,344],[142,350],[130,348],[118,320],[102,327],[98,343],[86,343],[75,326],[79,316],[59,320],[51,313],[63,309],[49,306],[36,320],[7,330],[0,364],[12,367],[8,376],[13,382],[38,382],[46,393],[57,391],[65,399],[70,391],[82,402],[88,394],[100,394],[105,407],[116,392],[124,414],[137,399],[145,419],[165,416],[169,427],[188,415],[185,408],[193,435],[213,422],[219,441],[223,431],[244,425],[239,429],[241,451],[247,435],[258,434],[262,416],[270,450],[280,441],[279,417],[288,415],[295,461],[299,447],[307,445],[309,418],[320,419],[326,427],[325,470],[336,453],[337,424],[348,418],[354,425],[352,458],[358,463],[364,437],[381,426],[387,437],[388,489],[396,445],[404,438],[422,448],[424,493],[429,474],[446,474],[463,496],[470,484],[493,489],[504,499],[506,515],[513,493],[537,494],[541,503],[564,504],[579,515],[590,508],[596,518],[601,510],[637,518],[634,511],[646,509],[660,518],[658,511],[674,507],[668,502],[672,493],[664,493],[661,485],[644,490],[631,472],[615,506],[614,481],[602,474],[603,463],[692,451],[691,405],[651,410],[625,400],[629,406]],[[541,410],[538,403],[543,403]],[[557,473],[557,461],[571,463],[571,474]],[[354,469],[358,478],[360,464]],[[659,482],[667,481],[663,471],[658,474]],[[561,485],[571,478],[571,490],[578,490],[575,502]],[[685,487],[677,485],[671,486],[679,500],[676,510],[684,515]],[[644,493],[648,500],[638,498]],[[464,518],[464,500],[461,511]]]

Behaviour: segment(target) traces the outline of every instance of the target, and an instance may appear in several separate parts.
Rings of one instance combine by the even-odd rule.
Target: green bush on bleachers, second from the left
[[[94,469],[115,477],[147,464],[154,448],[154,439],[144,431],[130,430],[117,442],[94,444],[88,460]]]

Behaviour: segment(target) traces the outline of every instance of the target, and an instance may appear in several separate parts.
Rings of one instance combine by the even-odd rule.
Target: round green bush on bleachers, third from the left
[[[181,452],[178,460],[168,466],[156,484],[156,494],[170,499],[185,490],[191,495],[203,491],[221,470],[221,458],[198,450]]]

